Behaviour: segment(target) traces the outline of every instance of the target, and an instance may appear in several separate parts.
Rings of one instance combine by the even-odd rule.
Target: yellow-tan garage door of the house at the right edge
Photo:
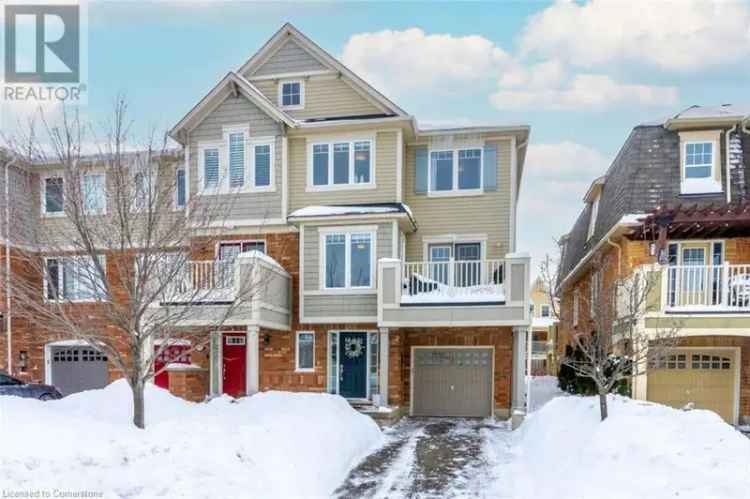
[[[732,350],[685,350],[653,362],[648,399],[683,408],[709,409],[734,422],[735,355]]]

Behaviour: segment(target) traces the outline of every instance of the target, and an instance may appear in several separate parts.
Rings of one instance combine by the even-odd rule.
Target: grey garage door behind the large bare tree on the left
[[[107,357],[91,347],[52,347],[52,384],[63,395],[107,385]]]

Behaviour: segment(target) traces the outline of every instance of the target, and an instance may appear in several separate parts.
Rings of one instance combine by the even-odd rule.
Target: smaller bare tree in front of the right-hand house
[[[571,339],[578,355],[562,361],[576,375],[593,381],[602,421],[608,416],[607,394],[668,356],[679,332],[676,322],[667,328],[644,327],[650,299],[658,291],[656,272],[640,268],[621,276],[610,260],[595,257],[588,282],[573,291],[577,310],[566,319],[576,324]]]

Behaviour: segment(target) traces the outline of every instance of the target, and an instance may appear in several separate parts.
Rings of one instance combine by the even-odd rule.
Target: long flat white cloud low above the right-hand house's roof
[[[550,111],[601,111],[629,104],[673,106],[678,102],[676,87],[621,83],[598,74],[577,74],[569,80],[563,80],[559,73],[555,75],[545,80],[531,71],[527,81],[518,75],[501,79],[500,88],[490,96],[490,102],[497,109]],[[510,88],[503,86],[508,81],[512,83]]]

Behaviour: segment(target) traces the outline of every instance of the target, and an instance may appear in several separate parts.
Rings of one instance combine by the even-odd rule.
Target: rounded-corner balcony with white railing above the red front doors
[[[233,260],[186,261],[163,286],[156,308],[183,307],[185,313],[177,314],[179,326],[220,322],[289,329],[291,283],[291,275],[281,265],[257,251]]]

